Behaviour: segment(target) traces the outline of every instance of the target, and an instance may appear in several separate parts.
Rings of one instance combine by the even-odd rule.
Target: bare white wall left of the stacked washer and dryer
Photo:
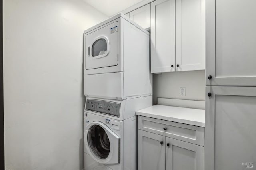
[[[83,0],[4,0],[6,170],[84,167]]]

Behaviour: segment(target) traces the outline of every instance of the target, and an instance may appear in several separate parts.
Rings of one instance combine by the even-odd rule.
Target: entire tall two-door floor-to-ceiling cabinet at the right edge
[[[255,168],[255,8],[206,0],[205,170]]]

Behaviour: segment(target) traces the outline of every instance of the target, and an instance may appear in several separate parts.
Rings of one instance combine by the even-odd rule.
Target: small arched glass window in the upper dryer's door
[[[105,39],[100,38],[92,44],[92,57],[103,55],[107,53],[107,42]]]

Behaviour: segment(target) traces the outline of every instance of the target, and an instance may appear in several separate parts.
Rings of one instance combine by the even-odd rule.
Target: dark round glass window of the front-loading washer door
[[[93,125],[87,137],[94,154],[100,159],[106,159],[110,151],[110,142],[105,130],[99,125]]]

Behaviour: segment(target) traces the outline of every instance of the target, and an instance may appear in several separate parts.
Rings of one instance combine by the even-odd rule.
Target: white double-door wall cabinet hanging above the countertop
[[[202,70],[204,63],[204,0],[152,2],[151,72]]]

